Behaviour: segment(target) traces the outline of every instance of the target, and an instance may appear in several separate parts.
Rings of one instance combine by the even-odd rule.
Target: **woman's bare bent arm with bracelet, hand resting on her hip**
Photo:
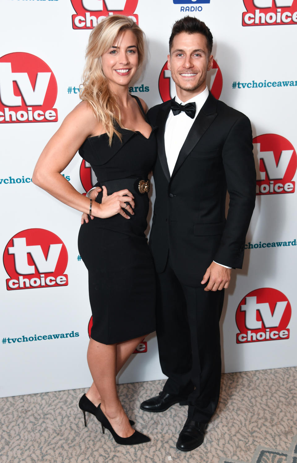
[[[96,120],[91,106],[84,101],[79,103],[64,119],[60,129],[42,151],[33,172],[33,183],[64,204],[88,214],[90,199],[73,188],[61,172],[73,159],[85,139],[101,131],[102,126]],[[102,203],[94,201],[91,213],[103,219],[120,213],[125,219],[130,219],[122,209],[126,208],[126,211],[133,214],[132,207],[127,206],[126,201],[134,207],[133,195],[128,190],[121,190],[108,196],[106,188],[103,187]]]

